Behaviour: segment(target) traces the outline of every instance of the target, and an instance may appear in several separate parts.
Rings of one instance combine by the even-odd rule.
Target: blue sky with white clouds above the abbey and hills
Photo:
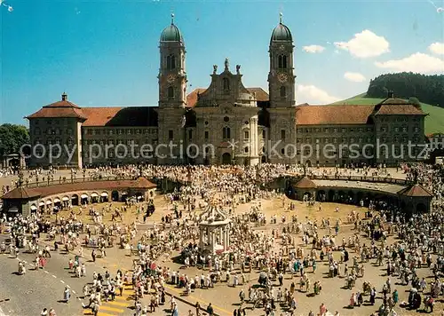
[[[188,91],[207,87],[212,65],[220,69],[225,58],[242,65],[245,86],[266,89],[268,43],[283,12],[297,46],[297,102],[349,98],[382,73],[444,73],[441,7],[443,0],[7,0],[0,123],[25,122],[63,91],[80,107],[156,105],[158,41],[171,12],[186,43]]]

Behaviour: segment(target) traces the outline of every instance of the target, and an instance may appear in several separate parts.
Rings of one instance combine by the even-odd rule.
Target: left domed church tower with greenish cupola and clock
[[[159,107],[186,105],[185,43],[171,14],[170,26],[163,29],[160,44]]]

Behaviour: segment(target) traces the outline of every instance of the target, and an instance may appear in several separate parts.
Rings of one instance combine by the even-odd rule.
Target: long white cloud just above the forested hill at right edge
[[[444,60],[434,56],[416,52],[403,59],[392,59],[384,62],[375,62],[380,68],[393,71],[411,71],[413,73],[431,74],[444,72]]]

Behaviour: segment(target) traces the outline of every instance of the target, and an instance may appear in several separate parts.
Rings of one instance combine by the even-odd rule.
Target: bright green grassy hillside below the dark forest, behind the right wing
[[[349,99],[337,101],[333,104],[353,104],[353,105],[376,105],[384,99],[365,98],[366,93],[358,94]],[[430,104],[421,103],[424,113],[428,116],[425,117],[425,134],[432,133],[444,133],[444,108],[433,107]]]

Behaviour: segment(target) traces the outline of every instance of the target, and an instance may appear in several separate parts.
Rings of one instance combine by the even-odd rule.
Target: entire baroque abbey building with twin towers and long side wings
[[[422,160],[421,107],[296,105],[295,45],[282,21],[268,47],[268,93],[245,87],[240,65],[213,66],[188,93],[186,45],[171,21],[160,38],[158,107],[79,107],[60,101],[28,115],[31,167],[125,163],[392,165]]]

